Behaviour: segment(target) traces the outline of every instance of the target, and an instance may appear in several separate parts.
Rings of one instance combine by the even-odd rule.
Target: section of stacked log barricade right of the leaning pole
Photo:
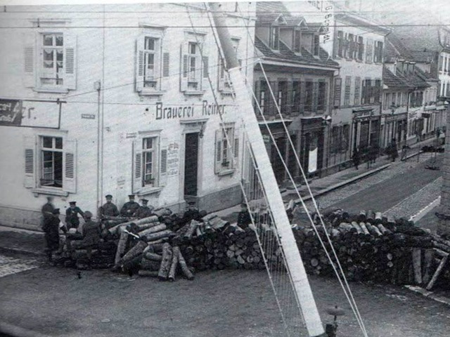
[[[435,274],[435,249],[450,253],[450,242],[404,218],[383,217],[381,213],[361,211],[349,215],[338,210],[325,217],[327,234],[340,265],[351,280],[428,285]],[[309,227],[294,230],[307,272],[333,275],[317,235],[327,242],[323,228],[316,233]],[[330,250],[330,246],[326,244]],[[330,254],[331,255],[331,254]]]

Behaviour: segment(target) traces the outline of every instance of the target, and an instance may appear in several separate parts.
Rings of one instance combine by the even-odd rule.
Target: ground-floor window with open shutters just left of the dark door
[[[143,133],[133,146],[133,192],[158,192],[167,181],[167,148],[160,145],[158,133]]]

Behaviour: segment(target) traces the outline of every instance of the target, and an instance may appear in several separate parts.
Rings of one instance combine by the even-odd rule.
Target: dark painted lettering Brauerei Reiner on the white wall
[[[187,119],[209,117],[214,114],[225,114],[226,105],[208,103],[203,100],[201,105],[165,105],[158,102],[155,105],[154,117],[155,119]]]

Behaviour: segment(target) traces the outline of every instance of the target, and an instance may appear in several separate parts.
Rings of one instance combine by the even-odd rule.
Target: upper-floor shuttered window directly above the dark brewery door
[[[207,88],[208,57],[203,35],[189,37],[181,46],[181,91],[201,95]]]

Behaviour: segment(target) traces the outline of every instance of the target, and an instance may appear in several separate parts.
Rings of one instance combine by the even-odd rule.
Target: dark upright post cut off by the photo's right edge
[[[441,204],[436,212],[437,234],[450,237],[450,104],[447,105],[444,162],[441,165]]]

